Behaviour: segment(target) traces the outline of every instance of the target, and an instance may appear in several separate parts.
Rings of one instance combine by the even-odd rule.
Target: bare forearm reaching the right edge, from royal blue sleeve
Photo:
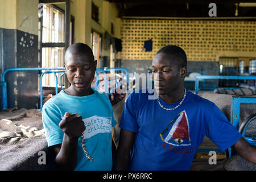
[[[256,147],[248,143],[243,137],[232,146],[232,149],[236,150],[244,159],[256,164]]]

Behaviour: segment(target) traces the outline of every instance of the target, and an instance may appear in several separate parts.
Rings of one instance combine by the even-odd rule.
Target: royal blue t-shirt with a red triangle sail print
[[[241,138],[213,102],[188,90],[183,103],[172,111],[164,110],[156,99],[149,100],[153,94],[137,91],[127,98],[119,124],[121,129],[136,133],[130,170],[188,170],[205,135],[221,151]],[[159,100],[166,108],[180,103]]]

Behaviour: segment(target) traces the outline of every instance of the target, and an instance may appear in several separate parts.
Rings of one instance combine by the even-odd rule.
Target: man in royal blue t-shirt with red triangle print
[[[135,90],[123,108],[114,170],[188,170],[205,135],[221,151],[233,147],[256,164],[256,148],[241,138],[220,109],[184,88],[183,49],[163,47],[151,69],[155,89]]]

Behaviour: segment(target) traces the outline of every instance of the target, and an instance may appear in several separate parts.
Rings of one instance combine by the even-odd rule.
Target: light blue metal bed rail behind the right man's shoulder
[[[204,80],[206,80],[206,79],[255,80],[255,91],[256,91],[256,76],[214,76],[214,75],[201,75],[201,76],[196,76],[195,94],[199,93],[199,79],[204,79]],[[228,89],[228,88],[226,88],[226,89]]]

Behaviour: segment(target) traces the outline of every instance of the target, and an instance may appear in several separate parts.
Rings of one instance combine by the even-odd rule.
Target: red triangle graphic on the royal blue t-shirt
[[[174,131],[174,134],[172,135],[172,138],[176,139],[183,139],[188,140],[189,139],[189,132],[188,132],[188,122],[187,118],[185,117],[185,114],[183,113],[182,119],[177,126],[176,130]]]

